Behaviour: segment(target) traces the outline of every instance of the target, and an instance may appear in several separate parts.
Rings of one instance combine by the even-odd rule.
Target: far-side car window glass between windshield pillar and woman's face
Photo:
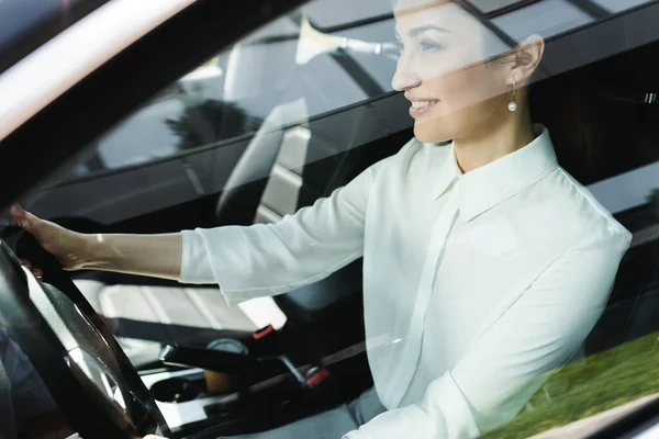
[[[70,178],[190,149],[221,148],[253,135],[277,105],[301,98],[302,87],[313,89],[314,99],[308,99],[303,114],[286,114],[280,125],[379,98],[392,91],[396,54],[390,22],[389,15],[331,35],[316,30],[305,14],[277,20],[186,75],[99,138],[92,146],[96,154]],[[299,78],[302,82],[293,86]]]

